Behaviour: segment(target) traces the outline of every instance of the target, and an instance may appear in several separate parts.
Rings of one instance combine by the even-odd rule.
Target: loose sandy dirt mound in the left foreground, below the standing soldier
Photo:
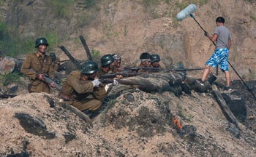
[[[124,156],[70,108],[50,94],[0,100],[0,156]]]

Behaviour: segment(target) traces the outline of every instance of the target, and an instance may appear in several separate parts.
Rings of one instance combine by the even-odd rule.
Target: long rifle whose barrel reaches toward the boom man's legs
[[[200,71],[204,70],[205,68],[182,68],[182,69],[162,69],[162,68],[151,68],[151,67],[125,67],[121,71],[151,71],[151,72],[164,72],[168,73],[170,71]]]

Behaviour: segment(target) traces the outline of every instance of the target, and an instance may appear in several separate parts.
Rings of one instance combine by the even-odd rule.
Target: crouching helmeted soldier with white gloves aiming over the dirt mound
[[[110,91],[113,84],[103,85],[95,79],[99,71],[97,63],[88,60],[82,65],[81,71],[72,71],[61,88],[60,97],[88,116],[102,105],[102,98]]]

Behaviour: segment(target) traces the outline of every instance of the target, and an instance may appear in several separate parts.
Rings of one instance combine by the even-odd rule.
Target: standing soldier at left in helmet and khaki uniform
[[[29,92],[50,93],[50,86],[54,87],[53,83],[49,86],[43,79],[45,74],[54,78],[52,60],[46,55],[48,45],[45,38],[37,39],[35,43],[37,52],[27,55],[26,60],[20,68],[21,73],[28,76],[31,81],[29,84]]]

